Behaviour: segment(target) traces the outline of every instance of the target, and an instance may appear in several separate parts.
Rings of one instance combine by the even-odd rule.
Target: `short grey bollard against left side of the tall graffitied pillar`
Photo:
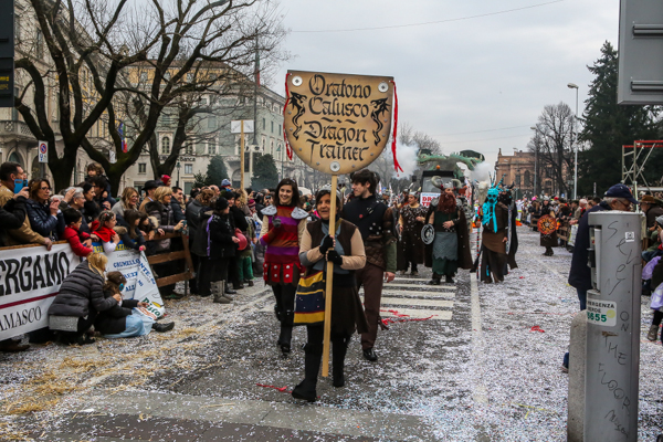
[[[567,441],[582,442],[585,422],[585,356],[587,345],[587,313],[582,311],[571,320],[569,347],[569,393]]]

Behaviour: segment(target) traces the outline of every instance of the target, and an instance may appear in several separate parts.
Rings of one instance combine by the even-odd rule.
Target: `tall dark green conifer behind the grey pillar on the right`
[[[638,139],[659,139],[659,108],[617,104],[618,54],[610,42],[603,43],[601,56],[587,69],[594,80],[582,114],[585,127],[580,140],[589,148],[579,152],[578,188],[579,194],[592,194],[596,182],[597,193],[603,194],[622,179],[622,145],[632,145]],[[662,168],[661,154],[655,151],[648,161],[652,173],[649,178],[657,179]]]

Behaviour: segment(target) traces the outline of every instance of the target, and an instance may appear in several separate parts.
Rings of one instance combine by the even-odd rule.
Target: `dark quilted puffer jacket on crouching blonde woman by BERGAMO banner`
[[[64,278],[49,315],[86,317],[116,305],[114,298],[104,298],[104,276],[90,269],[85,261]]]

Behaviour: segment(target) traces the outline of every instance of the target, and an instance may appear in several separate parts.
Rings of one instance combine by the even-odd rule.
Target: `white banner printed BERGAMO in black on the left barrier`
[[[0,250],[0,339],[49,326],[49,307],[81,259],[67,244]]]

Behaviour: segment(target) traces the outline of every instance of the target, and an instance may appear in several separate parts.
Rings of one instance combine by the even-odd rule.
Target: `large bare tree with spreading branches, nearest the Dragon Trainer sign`
[[[160,6],[162,1],[151,0],[151,10],[134,14],[130,21],[138,25],[145,21],[146,14],[149,17],[151,12],[154,22],[158,24],[138,25],[135,30],[126,30],[128,38],[125,39],[123,48],[128,45],[133,52],[154,55],[140,65],[135,63],[130,66],[129,70],[134,69],[134,72],[125,73],[125,85],[117,87],[117,91],[129,95],[125,101],[124,114],[137,116],[134,122],[131,148],[126,154],[122,151],[113,103],[108,105],[108,131],[113,137],[117,162],[110,164],[95,146],[83,143],[83,148],[91,158],[101,162],[106,170],[114,191],[117,190],[124,172],[136,162],[146,147],[149,148],[150,162],[156,175],[172,171],[177,157],[189,137],[191,119],[210,112],[194,105],[198,97],[206,92],[219,94],[219,91],[241,94],[242,85],[252,72],[254,41],[257,36],[261,51],[267,59],[278,56],[277,48],[284,32],[269,2],[171,2],[177,3],[177,8],[172,9],[175,12],[166,11]],[[266,6],[260,8],[260,3]],[[146,48],[145,42],[151,44]],[[147,82],[137,81],[131,76],[141,70],[148,72]],[[173,103],[178,108],[178,126],[171,151],[161,165],[154,136],[155,128],[159,115],[166,106]]]

